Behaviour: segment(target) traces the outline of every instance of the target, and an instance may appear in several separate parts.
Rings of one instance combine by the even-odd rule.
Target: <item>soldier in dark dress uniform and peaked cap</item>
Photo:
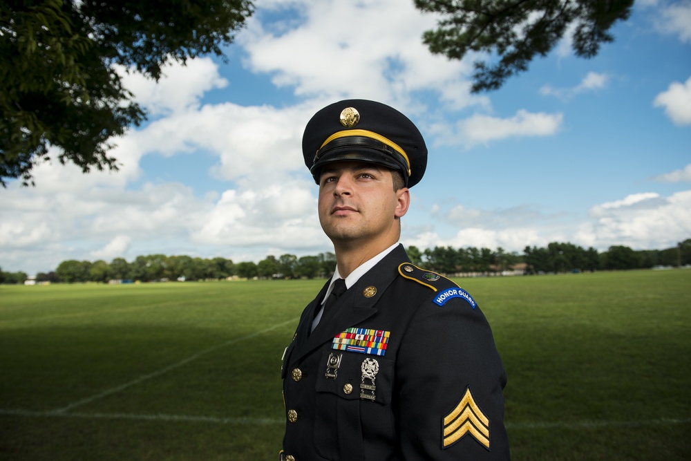
[[[507,378],[468,292],[398,243],[427,149],[389,106],[345,100],[303,155],[337,267],[284,352],[284,461],[508,460]]]

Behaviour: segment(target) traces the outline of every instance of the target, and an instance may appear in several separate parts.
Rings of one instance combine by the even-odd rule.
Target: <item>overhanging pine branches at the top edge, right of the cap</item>
[[[422,12],[441,15],[436,30],[423,42],[435,54],[463,59],[484,53],[475,62],[471,91],[497,90],[512,75],[524,72],[536,56],[546,56],[574,27],[576,56],[594,57],[600,44],[614,40],[609,30],[631,14],[634,0],[415,0]],[[491,57],[499,62],[489,64]]]

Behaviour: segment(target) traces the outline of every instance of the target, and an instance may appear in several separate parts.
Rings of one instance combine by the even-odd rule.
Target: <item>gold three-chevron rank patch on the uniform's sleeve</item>
[[[466,388],[466,393],[456,408],[444,416],[442,420],[442,449],[470,435],[489,450],[489,418],[482,413],[475,403],[471,388]]]

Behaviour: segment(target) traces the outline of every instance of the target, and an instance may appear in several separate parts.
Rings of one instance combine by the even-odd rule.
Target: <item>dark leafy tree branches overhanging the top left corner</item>
[[[5,0],[0,3],[0,185],[57,147],[61,164],[117,169],[108,139],[144,120],[117,66],[158,80],[169,62],[234,39],[249,0]]]

